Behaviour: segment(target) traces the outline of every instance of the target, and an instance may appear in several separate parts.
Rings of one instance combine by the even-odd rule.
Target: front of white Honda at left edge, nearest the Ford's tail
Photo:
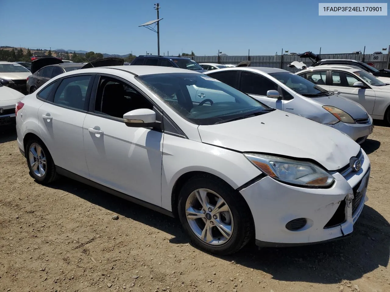
[[[0,127],[15,125],[15,106],[25,95],[0,81]]]

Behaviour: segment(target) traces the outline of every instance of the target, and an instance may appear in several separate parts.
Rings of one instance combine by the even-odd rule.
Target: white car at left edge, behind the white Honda
[[[7,83],[7,86],[20,91],[26,92],[27,77],[31,72],[16,62],[0,61],[0,79],[3,84]]]

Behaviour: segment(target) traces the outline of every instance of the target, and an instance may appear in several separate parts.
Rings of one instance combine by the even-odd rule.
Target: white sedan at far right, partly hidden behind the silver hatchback
[[[358,102],[373,119],[385,120],[390,124],[390,84],[372,74],[340,65],[310,67],[296,74],[325,90]],[[317,79],[320,74],[322,81]]]

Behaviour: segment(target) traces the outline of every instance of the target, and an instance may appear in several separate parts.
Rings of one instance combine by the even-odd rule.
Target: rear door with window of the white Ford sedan
[[[38,110],[41,135],[55,165],[85,178],[89,172],[83,151],[83,122],[93,81],[94,74],[61,79]]]

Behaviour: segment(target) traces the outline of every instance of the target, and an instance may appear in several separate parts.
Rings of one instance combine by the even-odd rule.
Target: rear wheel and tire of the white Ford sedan
[[[46,185],[55,181],[57,172],[49,150],[39,139],[31,139],[26,144],[26,159],[30,175],[38,183]]]

